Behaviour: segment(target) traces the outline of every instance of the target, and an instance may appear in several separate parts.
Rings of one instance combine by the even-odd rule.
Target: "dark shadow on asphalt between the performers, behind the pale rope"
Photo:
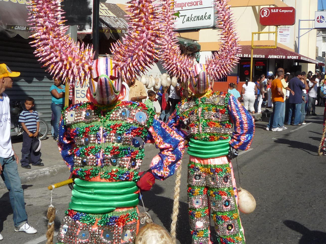
[[[148,210],[152,210],[157,215],[157,218],[159,218],[163,223],[164,227],[170,231],[173,199],[156,195],[162,194],[163,191],[162,187],[155,184],[150,191],[143,193],[143,201],[145,207],[148,208]],[[140,209],[140,211],[142,210]],[[176,232],[177,239],[181,244],[191,243],[188,204],[181,201],[179,201],[179,215]]]

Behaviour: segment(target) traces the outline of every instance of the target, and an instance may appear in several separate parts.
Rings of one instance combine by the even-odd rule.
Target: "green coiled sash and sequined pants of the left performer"
[[[110,188],[114,183],[134,187]],[[95,188],[88,188],[91,184]],[[105,188],[107,185],[109,187]],[[134,188],[137,188],[134,182],[101,183],[75,179],[69,209],[59,229],[58,244],[133,244],[139,229],[139,211],[135,206],[138,194],[128,192],[134,192]],[[129,198],[133,199],[132,203]]]

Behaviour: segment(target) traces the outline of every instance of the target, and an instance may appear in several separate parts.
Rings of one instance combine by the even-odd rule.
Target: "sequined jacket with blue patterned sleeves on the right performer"
[[[233,95],[211,89],[179,102],[168,124],[180,135],[201,141],[224,140],[232,133],[230,146],[241,150],[249,148],[255,131],[252,116]],[[187,132],[182,133],[184,128]]]

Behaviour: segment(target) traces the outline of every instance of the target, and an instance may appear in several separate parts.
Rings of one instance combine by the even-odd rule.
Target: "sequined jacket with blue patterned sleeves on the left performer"
[[[184,153],[183,138],[138,102],[110,106],[75,104],[63,112],[59,149],[70,171],[86,181],[134,181],[145,142],[160,149],[150,169],[156,179],[173,175]]]

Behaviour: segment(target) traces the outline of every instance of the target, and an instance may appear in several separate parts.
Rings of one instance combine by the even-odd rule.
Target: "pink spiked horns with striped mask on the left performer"
[[[157,17],[154,15],[156,5],[152,0],[131,0],[128,11],[129,28],[122,42],[113,45],[113,58],[94,63],[92,47],[80,47],[65,35],[68,27],[64,26],[64,17],[60,0],[31,0],[30,25],[36,33],[31,35],[36,40],[31,42],[36,47],[38,61],[47,66],[47,71],[54,79],[68,81],[70,88],[75,82],[90,82],[91,94],[97,102],[108,104],[119,97],[121,76],[133,79],[144,73],[155,59],[158,59],[156,40],[160,31],[156,27]],[[110,63],[112,65],[107,65]],[[104,65],[103,67],[101,67]],[[94,76],[92,69],[100,70]],[[93,74],[93,75],[92,75]],[[108,75],[114,74],[114,75]],[[102,75],[107,75],[104,77]],[[115,77],[114,80],[111,78]],[[91,80],[95,78],[95,80]],[[99,83],[97,83],[99,81]],[[105,91],[102,91],[106,89]]]

